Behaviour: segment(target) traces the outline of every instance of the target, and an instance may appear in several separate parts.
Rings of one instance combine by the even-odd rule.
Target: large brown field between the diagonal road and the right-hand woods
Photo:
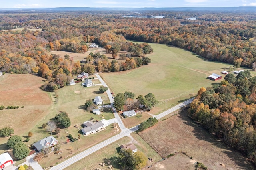
[[[254,169],[240,152],[227,147],[200,125],[193,123],[186,112],[162,121],[139,134],[163,158],[168,154],[183,151],[210,170]],[[172,164],[176,167],[182,162],[173,161]]]

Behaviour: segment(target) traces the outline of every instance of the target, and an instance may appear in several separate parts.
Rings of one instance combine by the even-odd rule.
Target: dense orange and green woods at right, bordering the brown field
[[[256,163],[256,77],[250,71],[228,74],[221,83],[202,87],[189,115]]]

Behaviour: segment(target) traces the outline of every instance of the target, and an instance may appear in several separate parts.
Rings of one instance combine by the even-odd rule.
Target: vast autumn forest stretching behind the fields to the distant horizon
[[[136,18],[122,15],[157,16]],[[195,18],[190,20],[188,18]],[[208,60],[256,68],[256,15],[254,12],[41,12],[0,13],[0,70],[7,73],[38,73],[48,79],[45,90],[69,83],[73,74],[86,71],[123,71],[150,63],[148,43],[174,45]],[[11,28],[23,30],[8,31]],[[40,28],[40,29],[36,29]],[[33,29],[33,30],[30,30]],[[128,40],[145,42],[135,44]],[[84,53],[96,43],[111,53],[90,53],[87,63],[49,51]],[[119,51],[124,53],[118,55]],[[120,61],[119,61],[120,59]]]

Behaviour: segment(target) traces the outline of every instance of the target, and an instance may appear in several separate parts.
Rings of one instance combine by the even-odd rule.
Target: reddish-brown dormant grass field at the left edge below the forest
[[[15,135],[23,137],[22,140],[26,139],[28,132],[48,114],[47,110],[52,103],[49,95],[40,89],[43,81],[43,78],[32,74],[5,74],[4,78],[0,77],[0,105],[20,107],[0,111],[4,120],[0,128],[11,127]],[[0,143],[4,144],[1,145],[0,152],[5,152],[7,140],[8,138],[0,138]]]

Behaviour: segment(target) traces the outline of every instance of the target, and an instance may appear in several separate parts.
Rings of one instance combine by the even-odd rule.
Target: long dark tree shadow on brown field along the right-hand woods
[[[246,161],[246,156],[243,155],[240,151],[227,146],[224,142],[220,141],[220,139],[216,138],[213,134],[207,132],[202,127],[202,125],[196,123],[194,120],[188,117],[186,109],[180,112],[180,114],[178,114],[177,116],[181,120],[183,120],[184,124],[194,129],[191,131],[193,136],[195,136],[199,140],[210,142],[212,145],[220,148],[221,152],[225,153],[226,156],[230,158],[230,160],[234,161],[234,163],[238,166],[239,169],[255,169],[254,165],[251,162]]]

